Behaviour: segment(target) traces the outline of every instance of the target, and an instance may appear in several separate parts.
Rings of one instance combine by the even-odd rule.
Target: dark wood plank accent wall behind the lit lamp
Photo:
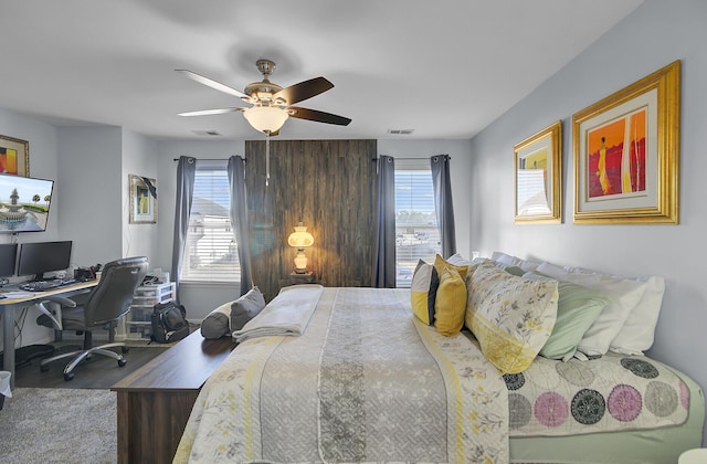
[[[325,286],[372,282],[376,140],[245,143],[253,281],[265,299],[291,285],[296,250],[287,238],[298,222],[314,236],[307,270]]]

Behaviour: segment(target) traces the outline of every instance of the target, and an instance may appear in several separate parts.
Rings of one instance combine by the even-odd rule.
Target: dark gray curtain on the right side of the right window
[[[454,207],[452,205],[452,182],[450,179],[450,156],[436,155],[430,159],[432,166],[432,187],[434,189],[434,209],[440,228],[440,247],[442,256],[456,253],[454,232]]]

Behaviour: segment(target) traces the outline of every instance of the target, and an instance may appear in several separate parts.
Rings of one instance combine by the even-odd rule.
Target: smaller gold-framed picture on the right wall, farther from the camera
[[[516,224],[562,222],[562,122],[514,148]]]

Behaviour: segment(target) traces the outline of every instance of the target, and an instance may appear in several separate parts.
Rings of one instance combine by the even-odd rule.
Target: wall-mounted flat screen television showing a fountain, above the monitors
[[[44,232],[54,181],[0,175],[0,233]]]

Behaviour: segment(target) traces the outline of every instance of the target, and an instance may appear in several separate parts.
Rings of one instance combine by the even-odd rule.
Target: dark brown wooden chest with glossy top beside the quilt
[[[171,463],[201,387],[234,347],[196,330],[114,384],[118,463]]]

